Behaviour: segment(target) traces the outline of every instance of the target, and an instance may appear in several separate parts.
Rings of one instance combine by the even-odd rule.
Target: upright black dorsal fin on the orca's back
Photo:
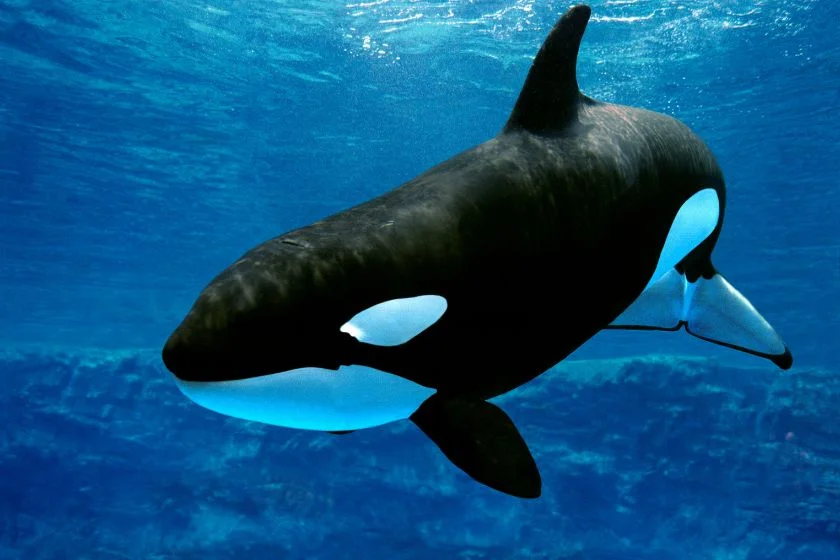
[[[577,55],[592,10],[569,9],[537,53],[504,131],[544,133],[562,127],[580,99]]]

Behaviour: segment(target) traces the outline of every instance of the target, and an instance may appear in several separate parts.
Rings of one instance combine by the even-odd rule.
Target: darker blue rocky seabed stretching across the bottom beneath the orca
[[[187,401],[154,352],[0,355],[0,558],[840,558],[840,373],[575,361],[497,399],[498,494],[409,422],[333,436]]]

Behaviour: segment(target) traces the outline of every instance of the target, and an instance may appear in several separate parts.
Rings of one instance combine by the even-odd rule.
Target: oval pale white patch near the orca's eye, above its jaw
[[[354,315],[341,332],[375,346],[399,346],[434,325],[446,306],[437,295],[383,301]]]

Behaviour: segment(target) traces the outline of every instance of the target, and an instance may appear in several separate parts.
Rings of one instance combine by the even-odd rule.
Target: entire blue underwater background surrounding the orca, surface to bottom
[[[523,502],[407,422],[228,419],[159,361],[244,251],[496,134],[567,7],[0,0],[0,558],[840,557],[831,0],[593,2],[578,64],[715,152],[715,262],[789,372],[602,333],[502,401]]]

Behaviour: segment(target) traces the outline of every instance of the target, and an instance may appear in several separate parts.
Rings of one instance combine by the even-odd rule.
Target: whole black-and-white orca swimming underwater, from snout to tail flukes
[[[685,329],[791,367],[715,269],[723,173],[679,121],[584,95],[590,8],[549,33],[497,136],[396,189],[254,247],[166,341],[211,410],[347,433],[410,419],[475,480],[541,493],[488,402],[603,329]]]

